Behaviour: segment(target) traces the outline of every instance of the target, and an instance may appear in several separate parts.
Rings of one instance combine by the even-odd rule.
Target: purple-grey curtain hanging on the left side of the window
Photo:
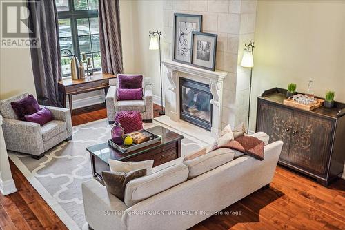
[[[28,9],[29,28],[39,39],[39,46],[30,48],[37,99],[45,105],[62,107],[57,84],[62,77],[55,0],[28,1]]]

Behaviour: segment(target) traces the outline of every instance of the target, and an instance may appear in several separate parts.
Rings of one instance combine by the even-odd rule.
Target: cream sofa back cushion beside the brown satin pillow
[[[187,166],[175,164],[145,177],[131,180],[126,185],[124,202],[128,207],[131,207],[141,200],[185,182],[187,177]]]

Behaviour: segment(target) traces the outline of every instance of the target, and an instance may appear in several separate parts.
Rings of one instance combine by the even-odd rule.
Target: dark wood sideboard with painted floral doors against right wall
[[[257,99],[256,131],[270,142],[284,142],[279,164],[304,173],[324,186],[342,174],[345,160],[345,104],[304,111],[283,104],[286,90],[266,90]]]

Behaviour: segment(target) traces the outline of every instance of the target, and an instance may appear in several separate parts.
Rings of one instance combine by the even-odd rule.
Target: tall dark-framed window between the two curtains
[[[98,0],[56,0],[56,6],[63,77],[70,75],[72,56],[81,60],[82,53],[91,58],[94,70],[101,70]]]

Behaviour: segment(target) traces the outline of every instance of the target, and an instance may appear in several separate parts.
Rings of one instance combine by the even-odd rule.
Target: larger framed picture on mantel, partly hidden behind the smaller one
[[[174,14],[173,61],[190,64],[192,32],[201,32],[202,15]]]

